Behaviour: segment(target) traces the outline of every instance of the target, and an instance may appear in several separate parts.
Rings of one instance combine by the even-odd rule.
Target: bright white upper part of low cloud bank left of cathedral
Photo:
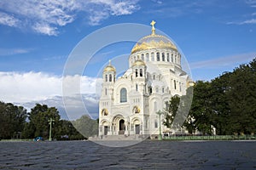
[[[70,84],[81,80],[79,94],[96,94],[96,78],[77,75],[65,79]],[[0,100],[3,102],[24,103],[62,95],[62,77],[44,72],[0,72],[0,82]],[[73,92],[73,87],[66,89]]]

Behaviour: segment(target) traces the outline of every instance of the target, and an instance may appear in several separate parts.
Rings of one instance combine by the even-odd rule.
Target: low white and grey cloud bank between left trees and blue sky
[[[62,98],[63,78],[67,83],[81,82],[79,94],[72,94],[73,87],[68,87],[71,92],[65,97],[68,105],[64,105]],[[28,111],[37,103],[56,107],[62,119],[75,120],[85,114],[98,117],[96,83],[102,83],[101,79],[79,75],[58,77],[44,72],[0,72],[0,82],[0,101],[22,105]]]

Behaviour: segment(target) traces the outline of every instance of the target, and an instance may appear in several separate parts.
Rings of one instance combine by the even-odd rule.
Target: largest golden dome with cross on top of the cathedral
[[[131,49],[131,54],[146,49],[173,49],[177,51],[177,47],[167,37],[155,34],[154,20],[151,22],[152,33],[140,39],[135,46]]]

